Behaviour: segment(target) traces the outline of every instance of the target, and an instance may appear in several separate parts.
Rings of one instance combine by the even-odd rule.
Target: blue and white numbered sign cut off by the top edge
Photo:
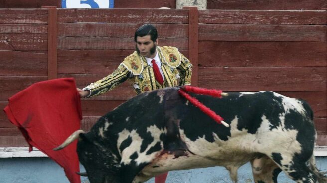
[[[61,0],[62,8],[114,8],[114,0]]]

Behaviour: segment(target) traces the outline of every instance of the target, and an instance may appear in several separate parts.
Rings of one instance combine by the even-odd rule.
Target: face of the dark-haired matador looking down
[[[144,57],[154,58],[156,56],[156,45],[158,44],[158,39],[156,42],[151,40],[150,35],[143,37],[136,37],[136,50]]]

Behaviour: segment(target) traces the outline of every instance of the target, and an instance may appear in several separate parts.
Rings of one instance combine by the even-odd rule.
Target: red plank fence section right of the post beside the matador
[[[326,11],[200,10],[199,86],[305,99],[326,145],[326,22]]]

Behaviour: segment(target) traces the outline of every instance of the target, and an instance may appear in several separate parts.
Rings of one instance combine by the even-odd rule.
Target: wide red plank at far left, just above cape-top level
[[[0,73],[5,76],[44,76],[47,54],[0,50]]]

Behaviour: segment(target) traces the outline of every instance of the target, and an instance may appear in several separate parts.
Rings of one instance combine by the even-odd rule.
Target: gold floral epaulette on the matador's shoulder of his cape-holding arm
[[[143,61],[136,51],[127,56],[121,65],[126,67],[126,69],[129,70],[133,75],[139,75],[143,71]]]

